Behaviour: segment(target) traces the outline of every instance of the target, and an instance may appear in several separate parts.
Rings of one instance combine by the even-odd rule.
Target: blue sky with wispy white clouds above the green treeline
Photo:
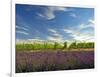
[[[16,40],[94,41],[94,8],[16,4]]]

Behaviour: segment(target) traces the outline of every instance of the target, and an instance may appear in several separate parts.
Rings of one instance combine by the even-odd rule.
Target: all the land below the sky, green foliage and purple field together
[[[94,43],[16,43],[16,73],[94,68]]]

